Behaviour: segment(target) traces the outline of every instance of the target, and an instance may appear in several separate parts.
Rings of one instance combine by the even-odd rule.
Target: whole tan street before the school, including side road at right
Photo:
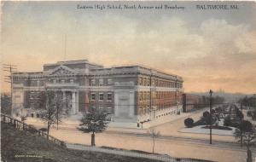
[[[191,113],[189,116],[194,120],[199,119],[201,112]],[[223,162],[246,160],[245,149],[238,147],[239,145],[234,142],[233,136],[213,136],[212,146],[210,146],[207,135],[178,132],[184,127],[183,119],[185,118],[187,117],[154,127],[155,130],[160,131],[161,135],[156,138],[155,153],[167,153],[172,157],[211,159]],[[32,124],[37,124],[38,127],[43,126],[42,123],[35,121]],[[96,134],[96,146],[151,152],[153,142],[152,138],[146,134],[147,131],[110,128],[104,133]],[[66,142],[90,145],[90,134],[76,130],[73,124],[66,126],[61,124],[59,130],[54,127],[50,130],[50,134]],[[253,151],[253,156],[255,154]]]

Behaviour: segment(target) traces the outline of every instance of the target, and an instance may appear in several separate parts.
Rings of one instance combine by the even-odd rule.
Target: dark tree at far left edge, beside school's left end
[[[9,94],[1,94],[1,113],[11,114],[11,96]]]

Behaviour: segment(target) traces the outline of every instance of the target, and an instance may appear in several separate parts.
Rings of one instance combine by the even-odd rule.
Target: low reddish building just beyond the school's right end
[[[183,112],[190,112],[197,108],[201,102],[201,96],[183,94]]]

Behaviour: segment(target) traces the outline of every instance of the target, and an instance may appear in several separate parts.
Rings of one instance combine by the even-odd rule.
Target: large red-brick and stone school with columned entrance
[[[147,67],[58,61],[43,72],[15,72],[13,83],[15,109],[38,109],[40,92],[54,90],[69,101],[71,114],[98,107],[115,121],[142,122],[182,112],[183,78]]]

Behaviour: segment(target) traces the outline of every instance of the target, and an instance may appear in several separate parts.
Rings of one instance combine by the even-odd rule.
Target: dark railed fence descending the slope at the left
[[[61,140],[58,140],[53,136],[49,136],[44,131],[37,130],[32,125],[26,124],[26,123],[24,123],[24,122],[22,122],[18,119],[14,119],[14,118],[10,117],[9,115],[1,113],[1,122],[6,123],[6,124],[11,124],[15,127],[15,129],[26,130],[26,131],[29,131],[33,134],[37,134],[38,136],[43,136],[44,138],[48,139],[49,141],[55,142],[55,144],[66,148],[65,142],[62,142]]]

